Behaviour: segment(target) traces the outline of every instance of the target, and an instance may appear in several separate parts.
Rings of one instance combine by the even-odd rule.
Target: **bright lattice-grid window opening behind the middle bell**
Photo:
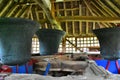
[[[97,37],[67,37],[65,46],[61,42],[58,52],[80,53],[80,50],[89,50],[89,48],[94,47],[99,47],[99,41],[97,40]],[[39,51],[39,40],[37,37],[34,37],[32,38],[32,54],[39,53]]]

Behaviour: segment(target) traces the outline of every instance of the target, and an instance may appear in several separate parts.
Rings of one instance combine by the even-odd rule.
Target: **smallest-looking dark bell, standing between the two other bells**
[[[65,32],[56,29],[39,29],[36,32],[40,42],[40,55],[54,55]]]

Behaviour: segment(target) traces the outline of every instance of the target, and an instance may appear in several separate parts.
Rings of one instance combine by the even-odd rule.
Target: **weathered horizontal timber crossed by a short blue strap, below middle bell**
[[[52,60],[49,62],[51,64],[50,71],[84,71],[88,66],[86,61],[61,61]],[[36,69],[45,71],[48,62],[40,61],[36,63]]]

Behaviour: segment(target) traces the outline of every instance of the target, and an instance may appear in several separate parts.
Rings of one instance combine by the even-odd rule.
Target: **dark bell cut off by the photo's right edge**
[[[100,43],[101,56],[104,59],[120,58],[120,27],[93,30]]]

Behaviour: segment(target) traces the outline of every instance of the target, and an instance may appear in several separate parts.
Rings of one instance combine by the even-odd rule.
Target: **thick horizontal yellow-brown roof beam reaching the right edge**
[[[120,17],[99,17],[99,16],[60,16],[57,18],[61,21],[88,21],[88,22],[109,22],[120,23]]]

